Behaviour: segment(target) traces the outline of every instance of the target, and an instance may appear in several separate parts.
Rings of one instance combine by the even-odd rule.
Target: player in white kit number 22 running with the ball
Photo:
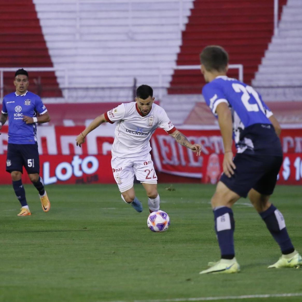
[[[153,89],[141,85],[136,91],[135,102],[120,104],[116,108],[96,117],[76,138],[77,145],[85,142],[86,135],[102,123],[117,123],[112,145],[112,172],[120,189],[122,199],[138,212],[143,211],[141,202],[135,197],[134,175],[141,182],[148,196],[150,213],[159,210],[157,176],[153,167],[149,140],[156,128],[163,128],[175,140],[200,155],[201,146],[191,144],[169,120],[165,110],[153,104]]]

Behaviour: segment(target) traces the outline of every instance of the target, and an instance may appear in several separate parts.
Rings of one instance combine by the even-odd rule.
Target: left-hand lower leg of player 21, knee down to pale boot
[[[209,273],[236,273],[240,266],[235,258],[234,229],[235,221],[231,206],[240,198],[231,191],[223,182],[218,182],[216,191],[211,199],[214,212],[215,231],[221,251],[221,259],[218,262],[209,262],[210,268],[200,274]]]

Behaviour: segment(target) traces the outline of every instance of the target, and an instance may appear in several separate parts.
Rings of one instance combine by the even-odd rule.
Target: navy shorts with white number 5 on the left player
[[[40,173],[38,144],[8,144],[6,171],[20,171],[23,166],[28,174]]]

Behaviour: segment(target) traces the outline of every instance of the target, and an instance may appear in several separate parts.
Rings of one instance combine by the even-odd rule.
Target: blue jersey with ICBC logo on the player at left
[[[37,113],[47,112],[41,98],[27,91],[23,95],[15,92],[5,95],[2,101],[2,113],[8,114],[8,143],[34,144],[37,141],[37,125],[26,124],[23,116],[36,117]]]

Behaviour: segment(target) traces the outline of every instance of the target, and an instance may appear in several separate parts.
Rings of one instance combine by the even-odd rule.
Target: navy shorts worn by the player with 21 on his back
[[[247,197],[252,188],[260,194],[271,195],[277,182],[282,161],[282,156],[237,153],[234,158],[235,174],[229,178],[223,173],[220,181],[244,198]]]

